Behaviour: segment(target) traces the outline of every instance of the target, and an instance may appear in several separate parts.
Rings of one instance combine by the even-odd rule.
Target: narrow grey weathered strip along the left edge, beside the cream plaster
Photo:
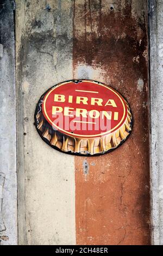
[[[14,13],[0,9],[0,243],[17,244],[16,107]]]

